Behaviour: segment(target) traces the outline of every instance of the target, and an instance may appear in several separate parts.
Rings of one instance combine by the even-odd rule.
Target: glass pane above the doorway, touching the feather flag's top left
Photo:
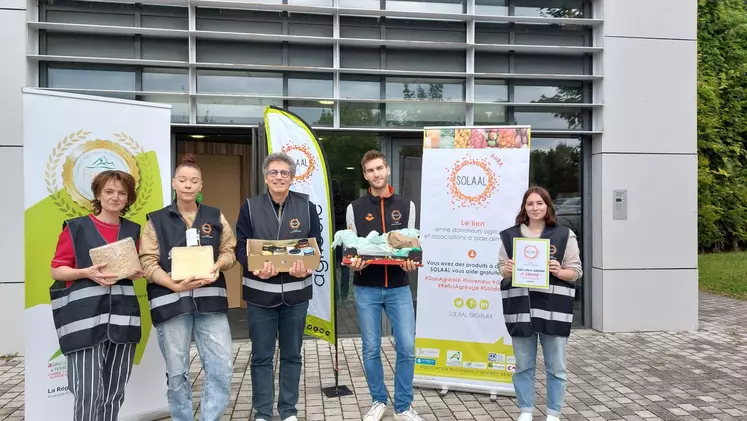
[[[268,105],[282,100],[251,98],[197,98],[197,124],[259,124]]]

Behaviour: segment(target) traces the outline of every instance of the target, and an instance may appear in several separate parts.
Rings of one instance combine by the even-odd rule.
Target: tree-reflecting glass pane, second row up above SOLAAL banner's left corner
[[[386,78],[386,99],[464,101],[463,79]]]

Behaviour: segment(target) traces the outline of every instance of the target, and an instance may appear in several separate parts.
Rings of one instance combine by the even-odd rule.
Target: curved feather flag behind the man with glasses
[[[319,224],[322,226],[322,253],[319,267],[314,271],[314,298],[309,303],[306,316],[307,335],[335,343],[334,270],[330,265],[334,225],[332,224],[332,190],[329,171],[319,139],[301,117],[282,108],[265,109],[267,152],[285,152],[296,161],[296,178],[291,190],[309,195],[316,205]]]

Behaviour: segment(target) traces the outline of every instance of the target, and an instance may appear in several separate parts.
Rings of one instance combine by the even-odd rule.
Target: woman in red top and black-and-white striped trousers
[[[93,213],[63,223],[52,260],[52,314],[67,356],[74,421],[117,419],[140,342],[140,306],[132,285],[142,277],[132,247],[140,225],[122,218],[135,203],[135,179],[103,171],[91,192]],[[93,264],[92,249],[120,240],[130,242],[135,265]],[[114,266],[128,273],[108,273]]]

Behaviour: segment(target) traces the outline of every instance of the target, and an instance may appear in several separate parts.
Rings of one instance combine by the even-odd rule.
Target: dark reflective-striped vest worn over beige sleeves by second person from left
[[[159,264],[171,273],[171,249],[187,245],[187,225],[184,223],[176,204],[148,214],[148,220],[158,238]],[[220,239],[224,229],[220,222],[220,209],[200,205],[192,223],[200,235],[201,246],[213,247],[213,260],[220,254]],[[228,311],[226,278],[221,272],[218,279],[191,291],[174,292],[153,282],[148,283],[148,301],[153,325],[157,326],[174,317],[193,312],[225,313]]]

